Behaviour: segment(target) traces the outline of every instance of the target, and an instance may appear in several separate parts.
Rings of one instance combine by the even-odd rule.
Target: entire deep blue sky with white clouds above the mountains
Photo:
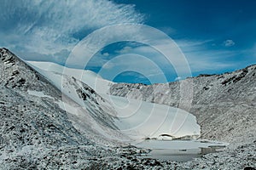
[[[254,0],[0,2],[0,47],[9,48],[22,59],[96,71],[113,82],[173,82],[199,74],[235,71],[256,63]],[[143,43],[147,41],[141,35],[154,38],[154,47],[170,50],[168,38],[163,39],[158,33],[146,34],[137,27],[131,31],[122,26],[127,23],[163,32],[183,55],[173,54],[170,62],[162,51],[152,48],[152,43]],[[119,26],[104,30],[115,25]],[[97,51],[86,65],[79,61],[88,56],[81,54],[69,59],[73,49],[95,32],[99,38],[90,42],[94,45],[113,35],[119,38],[94,48]]]

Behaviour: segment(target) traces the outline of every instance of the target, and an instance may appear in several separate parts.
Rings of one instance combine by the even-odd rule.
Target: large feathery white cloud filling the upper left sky
[[[90,31],[143,22],[143,15],[133,5],[108,0],[3,0],[0,11],[0,46],[18,54],[53,57],[63,49],[72,50],[79,38]]]

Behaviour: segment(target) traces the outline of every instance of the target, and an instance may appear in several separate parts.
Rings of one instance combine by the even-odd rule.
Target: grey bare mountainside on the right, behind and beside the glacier
[[[183,105],[182,86],[191,87],[191,105]],[[196,116],[201,138],[231,145],[256,140],[256,65],[166,84],[113,84],[110,94],[181,107]]]

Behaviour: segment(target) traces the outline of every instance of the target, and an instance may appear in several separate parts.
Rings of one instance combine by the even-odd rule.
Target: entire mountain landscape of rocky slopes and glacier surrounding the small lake
[[[253,167],[255,74],[250,65],[166,84],[114,83],[91,71],[25,61],[1,48],[0,168]],[[230,145],[188,162],[137,156],[148,150],[134,144],[163,134]]]

